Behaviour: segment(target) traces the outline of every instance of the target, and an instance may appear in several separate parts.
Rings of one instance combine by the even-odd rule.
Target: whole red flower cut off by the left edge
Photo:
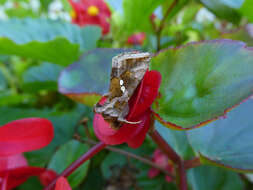
[[[50,121],[40,118],[16,120],[0,127],[0,184],[12,189],[30,176],[39,176],[44,168],[27,165],[22,152],[48,145],[54,136]]]

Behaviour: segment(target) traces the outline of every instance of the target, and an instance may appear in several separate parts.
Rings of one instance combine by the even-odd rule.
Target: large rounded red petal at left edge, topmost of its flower
[[[49,120],[27,118],[12,121],[0,128],[0,156],[19,154],[47,146],[54,137]]]

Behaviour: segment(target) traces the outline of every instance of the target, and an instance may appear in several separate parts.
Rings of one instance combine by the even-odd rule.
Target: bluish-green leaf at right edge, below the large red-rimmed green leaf
[[[202,162],[236,171],[253,171],[253,100],[230,111],[226,119],[187,132]]]

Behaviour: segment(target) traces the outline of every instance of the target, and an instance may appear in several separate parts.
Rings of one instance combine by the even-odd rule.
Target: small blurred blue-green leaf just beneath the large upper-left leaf
[[[25,91],[37,92],[39,90],[57,90],[57,79],[63,69],[60,65],[42,63],[30,67],[24,74],[23,88]]]

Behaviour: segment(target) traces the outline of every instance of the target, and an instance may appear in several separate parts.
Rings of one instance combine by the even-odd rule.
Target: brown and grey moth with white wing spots
[[[149,68],[151,55],[138,51],[119,54],[112,58],[112,70],[109,92],[103,105],[97,103],[94,112],[102,114],[113,129],[119,129],[123,123],[137,124],[127,121],[128,101]]]

